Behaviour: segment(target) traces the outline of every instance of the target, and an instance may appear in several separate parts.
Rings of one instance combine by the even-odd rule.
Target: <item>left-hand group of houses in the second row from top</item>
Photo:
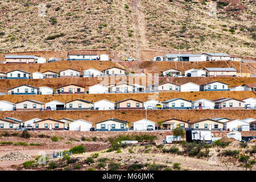
[[[10,71],[7,73],[0,72],[0,79],[42,79],[42,78],[57,78],[57,77],[94,77],[94,76],[108,76],[108,75],[125,75],[125,69],[118,67],[111,67],[104,69],[103,71],[99,71],[94,68],[86,69],[82,71],[82,75],[80,75],[80,71],[75,69],[65,69],[59,72],[53,71],[45,71],[45,72],[34,72],[28,73],[22,71],[20,69],[16,69],[14,71]]]

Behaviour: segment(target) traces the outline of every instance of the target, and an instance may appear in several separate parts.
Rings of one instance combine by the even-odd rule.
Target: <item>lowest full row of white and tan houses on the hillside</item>
[[[143,131],[147,129],[172,130],[178,125],[183,129],[197,130],[226,130],[226,131],[250,131],[256,130],[256,119],[229,119],[229,118],[213,118],[199,119],[198,121],[183,121],[177,118],[170,118],[164,121],[150,121],[141,119],[134,122],[128,122],[121,119],[110,118],[104,121],[90,122],[84,119],[39,119],[33,118],[28,121],[21,121],[15,118],[0,119],[0,130],[19,130],[21,127],[33,130],[70,130],[70,131],[90,131],[96,126],[97,131]],[[130,126],[129,126],[130,125]],[[94,126],[94,127],[95,127]]]

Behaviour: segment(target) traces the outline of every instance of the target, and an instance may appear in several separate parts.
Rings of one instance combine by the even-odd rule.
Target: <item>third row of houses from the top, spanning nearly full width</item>
[[[148,93],[148,92],[199,92],[199,91],[256,91],[256,84],[243,84],[240,86],[228,86],[224,82],[214,81],[202,85],[193,82],[185,84],[177,84],[173,82],[160,82],[150,86],[139,84],[110,84],[108,86],[96,84],[89,86],[85,92],[85,87],[75,84],[59,86],[57,88],[49,88],[48,86],[40,86],[36,88],[31,85],[19,85],[11,89],[7,89],[8,94],[31,95],[31,94],[100,94],[100,93]]]

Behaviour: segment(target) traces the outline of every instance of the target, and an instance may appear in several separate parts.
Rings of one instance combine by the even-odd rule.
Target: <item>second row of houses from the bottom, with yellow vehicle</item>
[[[31,111],[31,110],[113,110],[113,109],[256,109],[256,99],[253,97],[237,100],[235,98],[218,98],[207,100],[201,98],[195,101],[183,98],[172,98],[167,101],[149,100],[146,102],[127,98],[122,101],[100,100],[90,102],[76,99],[69,102],[51,101],[47,103],[25,100],[16,104],[0,101],[0,111]]]

